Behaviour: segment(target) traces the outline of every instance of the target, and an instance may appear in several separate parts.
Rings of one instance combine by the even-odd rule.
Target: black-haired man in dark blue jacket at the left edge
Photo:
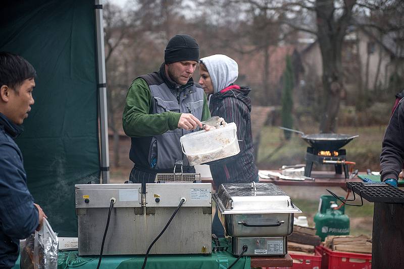
[[[0,52],[0,268],[14,266],[20,239],[41,228],[46,215],[33,203],[14,139],[34,104],[35,70],[23,57]]]

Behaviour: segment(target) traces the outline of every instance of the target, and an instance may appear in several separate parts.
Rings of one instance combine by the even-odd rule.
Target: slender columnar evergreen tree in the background
[[[283,90],[282,90],[282,126],[286,128],[293,127],[293,117],[292,117],[292,91],[293,91],[293,70],[290,56],[286,56],[286,68],[283,72]],[[289,140],[291,137],[290,131],[283,131],[285,139]]]

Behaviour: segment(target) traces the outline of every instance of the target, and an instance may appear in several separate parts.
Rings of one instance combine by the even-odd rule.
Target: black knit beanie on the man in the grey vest
[[[199,46],[190,35],[175,35],[164,50],[164,62],[194,60],[199,61]]]

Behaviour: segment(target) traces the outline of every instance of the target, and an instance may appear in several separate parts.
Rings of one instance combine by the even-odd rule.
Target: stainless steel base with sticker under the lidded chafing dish
[[[287,253],[286,237],[231,237],[233,255],[240,255],[243,246],[248,247],[243,255],[285,255]]]

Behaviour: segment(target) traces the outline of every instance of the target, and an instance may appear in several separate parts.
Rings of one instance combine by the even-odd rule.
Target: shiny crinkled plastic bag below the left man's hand
[[[39,232],[35,231],[34,269],[58,268],[58,236],[48,221],[43,218]]]

